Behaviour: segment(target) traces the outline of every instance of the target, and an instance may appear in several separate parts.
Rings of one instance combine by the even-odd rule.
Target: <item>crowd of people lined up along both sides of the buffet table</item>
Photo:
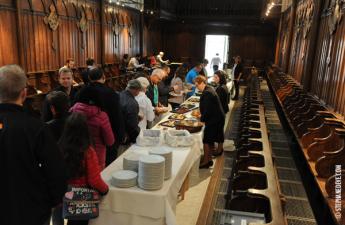
[[[201,93],[201,121],[205,123],[205,155],[200,168],[212,165],[212,155],[223,152],[225,114],[229,111],[226,74],[215,71],[214,89],[202,73],[207,60],[189,72],[183,64],[169,77],[164,53],[158,56],[155,60],[162,64],[160,68],[149,77],[130,80],[120,93],[105,85],[103,71],[93,59],[87,60],[84,86],[77,91],[68,61],[58,72],[59,86],[43,102],[41,121],[24,112],[24,71],[16,65],[0,68],[0,144],[6,155],[1,158],[6,182],[1,190],[6,193],[6,202],[16,202],[6,199],[9,196],[21,202],[6,207],[9,216],[4,218],[5,224],[49,224],[51,215],[54,225],[63,224],[61,199],[67,185],[90,186],[105,195],[108,186],[100,173],[116,159],[118,151],[135,143],[140,130],[149,128],[166,107],[178,107],[195,91]],[[135,68],[143,65],[139,56],[128,64]],[[186,91],[189,87],[192,90]],[[23,216],[15,216],[17,211]],[[87,223],[68,221],[69,225]]]

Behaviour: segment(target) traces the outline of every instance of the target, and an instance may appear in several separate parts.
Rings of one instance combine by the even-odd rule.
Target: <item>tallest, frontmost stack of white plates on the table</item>
[[[159,155],[145,155],[139,159],[139,187],[144,190],[158,190],[163,187],[165,158]]]

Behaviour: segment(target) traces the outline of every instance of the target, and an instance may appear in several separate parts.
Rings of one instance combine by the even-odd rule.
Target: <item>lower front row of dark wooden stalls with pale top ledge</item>
[[[264,214],[266,222],[262,224],[286,225],[264,111],[256,80],[248,85],[243,98],[226,209]]]

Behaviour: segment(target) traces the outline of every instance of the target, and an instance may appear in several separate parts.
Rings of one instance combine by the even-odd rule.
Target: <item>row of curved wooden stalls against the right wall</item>
[[[329,207],[334,222],[328,220],[327,224],[344,224],[345,194],[341,190],[345,184],[335,181],[344,178],[345,121],[304,91],[291,76],[270,70],[268,80],[323,196],[318,204]]]

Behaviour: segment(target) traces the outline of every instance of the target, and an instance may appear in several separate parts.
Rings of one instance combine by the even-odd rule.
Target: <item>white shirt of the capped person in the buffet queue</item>
[[[139,127],[140,130],[145,130],[147,127],[147,121],[152,122],[155,118],[155,113],[153,111],[154,108],[151,100],[142,91],[138,96],[135,97],[135,100],[139,104],[139,115],[143,117],[143,119],[139,122]]]

